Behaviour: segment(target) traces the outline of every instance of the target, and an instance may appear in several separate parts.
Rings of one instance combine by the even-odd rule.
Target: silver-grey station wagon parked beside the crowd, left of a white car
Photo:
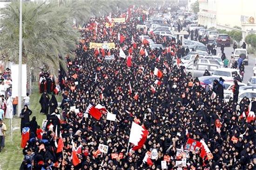
[[[210,73],[214,72],[216,69],[221,68],[221,65],[218,64],[210,64],[204,63],[202,59],[199,59],[196,66],[194,66],[194,62],[189,62],[188,64],[184,65],[186,68],[186,72],[193,72],[194,70],[194,77],[201,77],[203,76],[205,70],[208,70]]]

